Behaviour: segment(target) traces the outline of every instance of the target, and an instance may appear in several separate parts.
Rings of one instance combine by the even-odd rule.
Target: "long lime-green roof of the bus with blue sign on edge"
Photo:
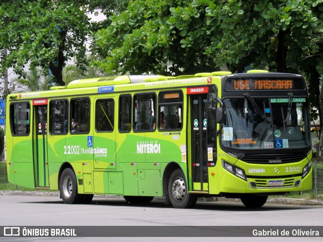
[[[8,96],[9,99],[35,99],[44,97],[58,97],[69,96],[72,93],[71,89],[79,89],[78,95],[83,94],[95,94],[95,93],[113,93],[113,92],[125,92],[131,90],[147,90],[166,87],[180,87],[180,86],[197,86],[207,85],[214,82],[218,82],[222,77],[234,77],[234,76],[258,76],[258,75],[292,75],[286,73],[244,73],[244,74],[232,74],[231,72],[211,72],[211,73],[197,73],[195,75],[183,75],[183,76],[162,76],[162,75],[124,75],[113,77],[100,77],[90,79],[80,79],[70,82],[67,86],[55,86],[51,87],[49,91],[36,91],[36,92],[24,92],[14,93]],[[300,76],[300,75],[297,75]],[[210,77],[212,81],[210,82]],[[136,84],[135,86],[132,86]],[[129,86],[131,85],[131,86]],[[72,91],[72,90],[71,90]],[[75,92],[73,91],[73,94]]]

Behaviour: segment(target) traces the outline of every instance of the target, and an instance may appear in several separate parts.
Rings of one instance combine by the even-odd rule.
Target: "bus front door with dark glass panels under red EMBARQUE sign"
[[[188,176],[190,192],[208,193],[208,167],[214,166],[216,153],[216,88],[192,88],[189,95]]]

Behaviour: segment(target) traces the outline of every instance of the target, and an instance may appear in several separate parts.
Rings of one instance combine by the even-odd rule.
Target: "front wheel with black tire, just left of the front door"
[[[187,193],[187,184],[183,171],[172,172],[168,183],[168,195],[174,208],[191,208],[196,204],[197,196]]]

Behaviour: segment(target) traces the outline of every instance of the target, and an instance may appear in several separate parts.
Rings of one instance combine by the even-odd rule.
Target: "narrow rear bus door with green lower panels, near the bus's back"
[[[34,176],[36,188],[49,188],[47,161],[47,105],[34,104]]]

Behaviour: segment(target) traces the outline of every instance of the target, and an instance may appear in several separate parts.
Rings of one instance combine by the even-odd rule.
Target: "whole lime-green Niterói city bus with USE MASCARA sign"
[[[307,87],[300,75],[250,71],[76,80],[8,96],[10,183],[60,190],[64,203],[119,195],[239,198],[311,189]]]

